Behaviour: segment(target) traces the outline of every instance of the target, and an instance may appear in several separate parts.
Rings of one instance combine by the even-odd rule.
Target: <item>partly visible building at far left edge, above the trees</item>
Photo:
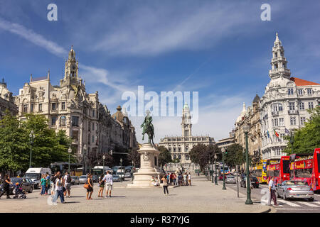
[[[4,116],[6,110],[9,110],[14,116],[18,113],[18,108],[14,103],[14,96],[12,95],[12,92],[9,92],[6,87],[6,82],[2,79],[2,82],[0,82],[0,120]]]

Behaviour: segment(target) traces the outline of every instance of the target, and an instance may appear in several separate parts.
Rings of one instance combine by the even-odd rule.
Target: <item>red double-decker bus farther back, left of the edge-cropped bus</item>
[[[276,184],[290,179],[290,157],[282,156],[280,160],[267,161],[267,178],[268,183],[274,177]]]

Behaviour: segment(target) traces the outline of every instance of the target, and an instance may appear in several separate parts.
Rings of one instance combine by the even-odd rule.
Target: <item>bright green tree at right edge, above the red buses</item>
[[[314,153],[315,148],[320,148],[320,107],[308,109],[311,118],[304,123],[303,128],[294,130],[294,153]],[[287,140],[287,148],[284,153],[292,154],[292,144],[290,135],[284,137]]]

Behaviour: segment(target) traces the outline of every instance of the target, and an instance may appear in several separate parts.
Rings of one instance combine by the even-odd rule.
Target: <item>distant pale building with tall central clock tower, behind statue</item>
[[[188,104],[184,104],[181,117],[181,136],[166,136],[160,139],[160,146],[167,148],[173,160],[180,160],[181,165],[190,165],[189,151],[193,146],[214,144],[215,140],[209,135],[192,135],[191,114]]]

